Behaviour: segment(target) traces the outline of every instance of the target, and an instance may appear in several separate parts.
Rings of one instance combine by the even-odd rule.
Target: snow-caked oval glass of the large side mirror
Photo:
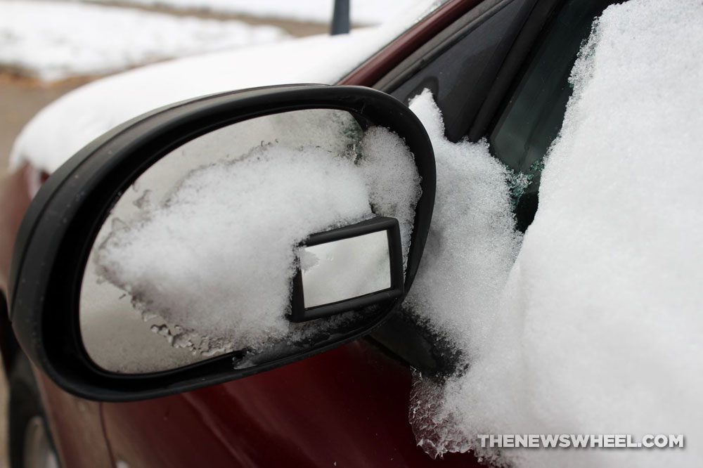
[[[232,351],[246,367],[357,326],[367,309],[295,323],[294,280],[305,308],[387,292],[392,264],[402,281],[419,197],[404,141],[347,112],[285,112],[195,138],[141,174],[99,230],[82,280],[84,347],[110,372]],[[395,257],[378,229],[301,247],[380,218],[395,223]]]

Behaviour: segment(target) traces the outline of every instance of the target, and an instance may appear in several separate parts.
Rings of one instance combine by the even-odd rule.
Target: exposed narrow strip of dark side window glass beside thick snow
[[[489,134],[491,152],[515,172],[516,224],[524,231],[537,211],[543,158],[559,134],[572,94],[569,74],[595,18],[612,0],[570,0],[550,22]]]

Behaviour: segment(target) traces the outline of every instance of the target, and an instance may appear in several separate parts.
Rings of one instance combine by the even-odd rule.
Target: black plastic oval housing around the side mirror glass
[[[82,275],[98,230],[120,195],[155,162],[188,141],[228,124],[280,112],[344,110],[361,126],[378,125],[404,139],[422,178],[404,284],[361,327],[236,369],[231,353],[182,368],[121,375],[99,368],[79,327]],[[436,174],[423,125],[403,103],[361,86],[268,86],[187,100],[136,117],[96,139],[44,183],[22,220],[8,286],[10,317],[34,365],[72,394],[98,401],[134,401],[190,391],[273,369],[368,334],[401,304],[425,247]],[[396,252],[397,255],[397,252]],[[394,263],[397,265],[397,258]],[[397,280],[397,275],[395,276]],[[295,307],[294,307],[295,310]]]

